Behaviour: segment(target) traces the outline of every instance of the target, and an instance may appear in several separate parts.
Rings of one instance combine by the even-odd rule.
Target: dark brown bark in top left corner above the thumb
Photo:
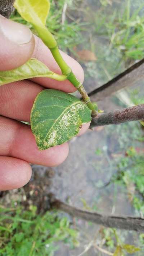
[[[0,14],[5,18],[9,18],[14,10],[13,3],[14,0],[0,0]]]

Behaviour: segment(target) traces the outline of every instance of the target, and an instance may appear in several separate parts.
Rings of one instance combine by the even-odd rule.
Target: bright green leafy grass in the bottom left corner
[[[67,217],[58,212],[37,215],[36,206],[24,210],[22,206],[0,206],[1,256],[53,256],[58,242],[70,248],[78,245],[78,232],[71,228]]]

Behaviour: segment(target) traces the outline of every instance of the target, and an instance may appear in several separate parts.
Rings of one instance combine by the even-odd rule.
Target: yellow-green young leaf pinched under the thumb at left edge
[[[32,77],[49,77],[55,80],[65,80],[65,76],[60,76],[50,71],[48,67],[37,59],[30,59],[21,67],[0,71],[0,85],[8,84]]]

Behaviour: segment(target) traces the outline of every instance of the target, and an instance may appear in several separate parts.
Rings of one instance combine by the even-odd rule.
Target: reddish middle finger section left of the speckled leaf
[[[0,115],[30,122],[33,102],[43,89],[29,80],[0,86]]]

